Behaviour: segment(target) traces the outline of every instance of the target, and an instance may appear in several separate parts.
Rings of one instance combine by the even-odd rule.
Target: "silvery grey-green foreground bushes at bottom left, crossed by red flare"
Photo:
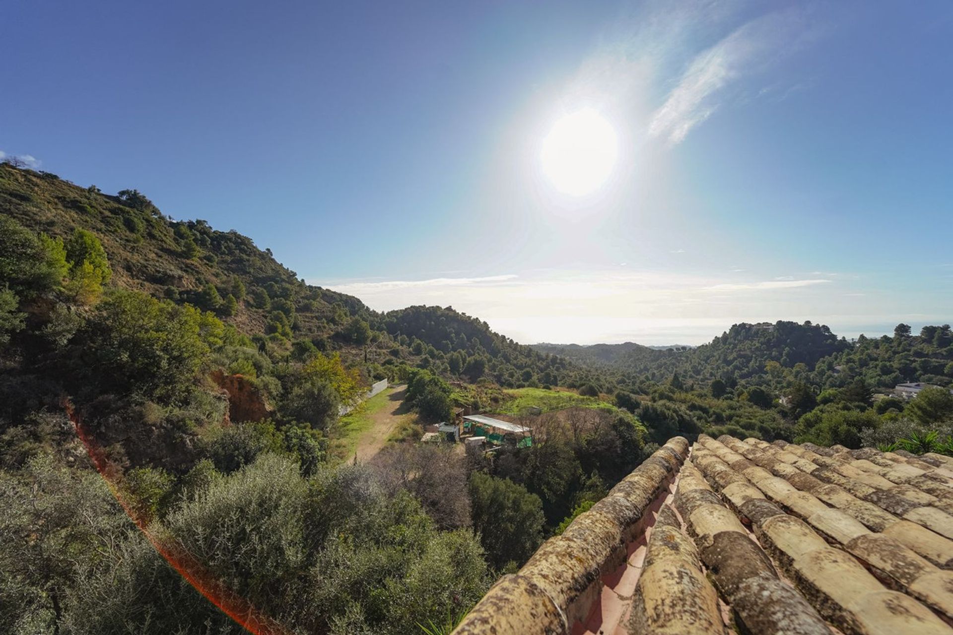
[[[305,480],[266,452],[193,484],[153,534],[188,549],[212,574],[206,584],[292,630],[416,632],[490,582],[472,533],[438,531],[413,497],[387,494],[361,468]],[[241,632],[162,560],[94,473],[77,480],[36,459],[18,477],[0,473],[0,505],[5,632]]]

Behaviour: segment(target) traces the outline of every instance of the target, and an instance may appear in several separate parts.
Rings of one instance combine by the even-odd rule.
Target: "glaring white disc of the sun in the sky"
[[[594,109],[559,119],[542,142],[542,171],[553,187],[581,196],[598,189],[616,165],[616,130]]]

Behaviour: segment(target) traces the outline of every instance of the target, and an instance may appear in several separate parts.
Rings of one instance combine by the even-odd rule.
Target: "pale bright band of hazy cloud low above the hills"
[[[951,321],[950,313],[939,311],[925,315],[898,312],[869,319],[864,309],[875,311],[882,294],[876,289],[852,291],[867,289],[856,276],[824,275],[828,277],[752,281],[736,274],[735,282],[720,283],[703,275],[635,273],[618,268],[572,274],[544,271],[532,277],[509,274],[421,281],[308,282],[354,295],[378,311],[413,305],[453,307],[520,344],[698,346],[733,324],[779,320],[809,320],[852,339],[860,334],[892,334],[900,323],[917,332],[924,325]],[[800,293],[790,297],[792,289]],[[800,306],[805,298],[820,310],[805,311]],[[554,307],[558,313],[546,312]],[[851,307],[856,311],[837,312]]]

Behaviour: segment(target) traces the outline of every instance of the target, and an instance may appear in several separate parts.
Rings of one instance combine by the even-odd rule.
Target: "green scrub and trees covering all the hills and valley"
[[[340,465],[363,421],[340,407],[383,378],[421,424],[469,407],[534,445],[400,429]],[[939,387],[903,402],[886,394],[901,381]],[[951,384],[948,326],[848,343],[736,325],[659,351],[521,346],[453,308],[377,313],[135,189],[0,166],[0,630],[240,632],[155,542],[291,632],[420,632],[673,435],[949,453]]]

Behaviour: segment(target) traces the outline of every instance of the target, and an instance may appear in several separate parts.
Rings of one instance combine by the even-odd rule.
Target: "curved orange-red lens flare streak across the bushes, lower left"
[[[92,438],[89,431],[82,425],[80,417],[75,412],[72,404],[69,401],[64,401],[63,406],[76,430],[76,436],[83,442],[83,446],[86,447],[86,451],[90,455],[92,465],[95,466],[96,471],[109,486],[116,502],[122,506],[132,522],[139,527],[139,530],[142,531],[159,555],[209,602],[220,608],[222,612],[249,632],[255,635],[288,635],[286,628],[267,615],[262,614],[247,600],[216,580],[192,554],[181,546],[171,544],[171,541],[160,539],[149,530],[147,519],[132,508],[122,490],[117,486],[118,470],[107,458],[102,446]]]

